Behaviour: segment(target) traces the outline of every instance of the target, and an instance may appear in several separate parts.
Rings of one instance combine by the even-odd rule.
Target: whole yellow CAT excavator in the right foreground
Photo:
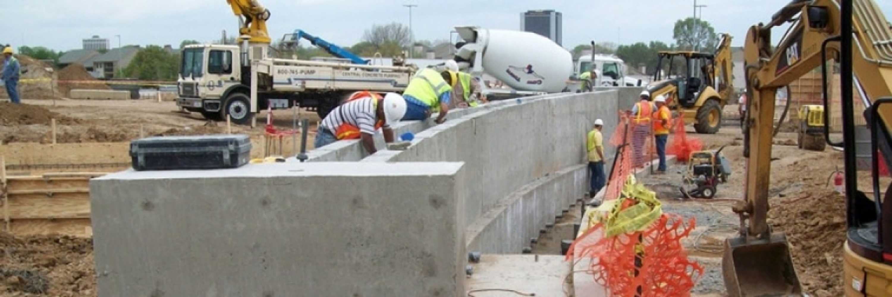
[[[771,29],[792,23],[777,47]],[[747,79],[746,200],[734,205],[740,235],[725,241],[723,276],[731,296],[799,295],[802,289],[786,237],[768,226],[775,94],[807,71],[821,66],[823,117],[828,105],[826,61],[839,62],[843,141],[824,141],[841,148],[845,165],[847,241],[843,248],[846,296],[892,296],[892,185],[881,192],[880,160],[892,166],[892,29],[873,0],[794,0],[772,21],[749,29],[744,46]],[[853,91],[866,109],[855,111]],[[855,172],[855,117],[871,129],[871,182],[859,187]],[[885,158],[880,158],[879,154]],[[892,168],[892,167],[889,167]],[[871,193],[868,197],[865,193]],[[884,193],[884,194],[883,194]]]

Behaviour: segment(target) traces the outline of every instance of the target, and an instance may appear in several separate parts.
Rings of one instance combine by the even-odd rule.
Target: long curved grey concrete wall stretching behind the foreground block
[[[464,161],[465,223],[476,225],[484,213],[509,194],[541,177],[585,164],[585,137],[594,120],[604,120],[604,139],[612,136],[618,120],[617,95],[616,91],[559,94],[502,102],[418,133],[406,151],[381,151],[363,161]],[[615,148],[605,147],[607,156],[614,152]],[[558,200],[566,208],[588,190],[584,185],[573,193],[536,192],[541,194],[536,199]],[[513,221],[532,219],[533,226],[542,227],[554,220],[555,211],[550,208],[528,210]],[[534,229],[538,231],[539,227]],[[492,248],[498,250],[481,252],[519,252],[522,246]]]

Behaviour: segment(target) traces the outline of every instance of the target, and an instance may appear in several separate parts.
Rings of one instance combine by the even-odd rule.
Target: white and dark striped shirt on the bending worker
[[[363,97],[348,103],[343,103],[335,107],[325,120],[322,120],[322,127],[328,131],[335,133],[338,127],[346,122],[359,128],[359,132],[365,134],[375,134],[375,122],[377,116],[375,100],[371,97]]]

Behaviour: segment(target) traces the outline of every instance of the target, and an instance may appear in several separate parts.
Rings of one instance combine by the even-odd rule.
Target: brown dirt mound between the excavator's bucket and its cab
[[[845,210],[845,198],[829,189],[772,201],[768,222],[775,231],[787,234],[805,292],[819,297],[842,296]]]

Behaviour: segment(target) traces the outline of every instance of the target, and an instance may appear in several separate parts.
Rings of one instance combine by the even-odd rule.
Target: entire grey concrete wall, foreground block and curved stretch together
[[[596,119],[617,122],[638,92],[541,95],[453,111],[442,125],[404,121],[397,134],[416,133],[405,151],[364,156],[341,141],[305,163],[95,178],[97,289],[465,295],[468,252],[521,253],[583,197],[585,147],[568,140]]]

